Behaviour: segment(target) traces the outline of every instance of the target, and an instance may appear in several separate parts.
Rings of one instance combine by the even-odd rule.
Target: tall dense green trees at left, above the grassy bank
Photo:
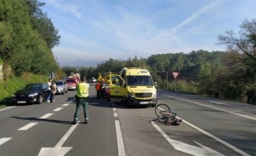
[[[0,1],[0,58],[23,72],[47,74],[58,64],[51,52],[60,36],[36,0]]]

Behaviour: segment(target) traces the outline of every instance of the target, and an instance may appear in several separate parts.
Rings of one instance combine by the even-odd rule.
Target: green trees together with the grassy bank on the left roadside
[[[0,105],[31,82],[47,82],[49,72],[61,69],[52,54],[60,35],[37,0],[0,1]]]

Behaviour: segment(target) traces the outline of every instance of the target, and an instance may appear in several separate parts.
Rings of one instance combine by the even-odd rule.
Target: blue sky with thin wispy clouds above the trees
[[[225,51],[218,35],[256,18],[255,0],[39,0],[59,30],[52,52],[70,61]]]

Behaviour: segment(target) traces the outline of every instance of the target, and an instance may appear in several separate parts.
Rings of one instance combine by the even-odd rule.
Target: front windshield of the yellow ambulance
[[[150,76],[127,76],[127,86],[153,86]]]

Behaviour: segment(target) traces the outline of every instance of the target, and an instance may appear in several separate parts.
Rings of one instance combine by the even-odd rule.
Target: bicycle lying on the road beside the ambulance
[[[181,118],[177,117],[177,113],[173,113],[166,104],[158,104],[155,113],[158,120],[165,125],[179,125],[182,121]]]

